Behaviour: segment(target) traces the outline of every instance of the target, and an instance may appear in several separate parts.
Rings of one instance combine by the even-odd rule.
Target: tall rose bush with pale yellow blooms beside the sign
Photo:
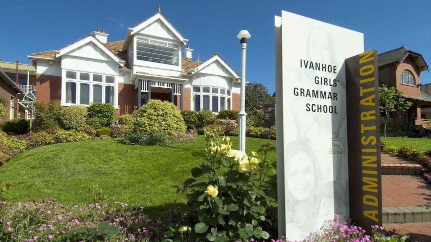
[[[187,206],[179,208],[182,216],[168,227],[164,241],[269,238],[262,225],[267,222],[267,201],[273,199],[262,186],[264,159],[260,161],[256,152],[245,155],[232,149],[228,137],[219,139],[220,133],[220,128],[204,129],[205,150],[192,155],[204,157],[205,162],[191,169],[193,178],[178,187],[178,192],[185,193]]]

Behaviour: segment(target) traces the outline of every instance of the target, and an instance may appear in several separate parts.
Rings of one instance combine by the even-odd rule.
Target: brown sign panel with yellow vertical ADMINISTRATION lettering
[[[346,59],[350,218],[369,234],[381,225],[377,51]]]

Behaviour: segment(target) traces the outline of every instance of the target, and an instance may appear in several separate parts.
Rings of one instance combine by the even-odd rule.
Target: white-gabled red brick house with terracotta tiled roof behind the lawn
[[[62,48],[30,54],[36,99],[62,106],[111,103],[117,116],[151,98],[181,110],[239,110],[239,75],[218,54],[193,61],[188,40],[160,10],[128,28],[123,40],[107,38],[97,29]]]

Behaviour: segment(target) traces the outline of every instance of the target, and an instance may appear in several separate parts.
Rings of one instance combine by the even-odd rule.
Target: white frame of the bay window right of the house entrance
[[[195,92],[194,91],[195,87],[199,88],[199,92]],[[209,87],[209,92],[203,92],[203,88],[208,88],[208,87]],[[216,89],[217,93],[213,92],[213,88]],[[224,89],[225,90],[224,91],[225,94],[220,94],[221,93],[220,89]],[[228,93],[230,95],[228,95]],[[195,110],[196,109],[195,108],[195,101],[194,101],[195,100],[195,96],[199,96],[200,97],[200,100],[199,100],[199,102],[200,102],[200,109],[199,110]],[[209,96],[209,109],[203,109],[203,96]],[[213,109],[212,109],[212,97],[217,97],[218,103],[217,103],[217,110],[216,110],[216,112],[214,112]],[[221,107],[221,99],[220,99],[220,97],[224,97],[224,99],[225,99],[225,101],[224,101],[224,108],[225,109],[223,109],[223,110],[226,110],[226,109],[232,107],[232,96],[231,96],[231,91],[229,89],[221,88],[221,87],[214,87],[214,86],[203,86],[203,85],[202,86],[197,86],[197,85],[194,85],[194,86],[191,87],[191,109],[193,111],[196,111],[196,112],[198,112],[200,110],[210,110],[213,113],[218,114],[218,112],[221,110],[220,109],[220,107]]]

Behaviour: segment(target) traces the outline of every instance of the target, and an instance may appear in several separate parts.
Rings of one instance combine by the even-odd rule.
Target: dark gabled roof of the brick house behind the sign
[[[378,66],[388,65],[388,64],[399,64],[404,61],[407,56],[411,55],[414,63],[419,68],[419,71],[427,70],[428,65],[422,57],[422,54],[411,51],[402,45],[399,48],[389,50],[387,52],[381,53],[378,55]]]

